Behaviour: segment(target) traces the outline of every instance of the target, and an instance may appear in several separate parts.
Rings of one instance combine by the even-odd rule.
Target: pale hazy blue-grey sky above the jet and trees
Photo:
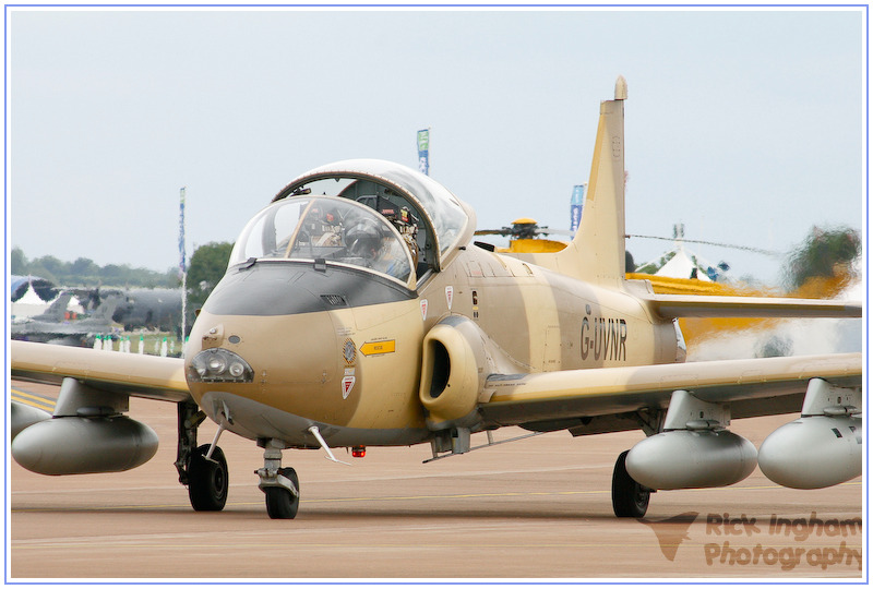
[[[8,9],[10,242],[164,271],[296,176],[417,165],[480,228],[567,228],[599,101],[625,104],[629,233],[787,251],[862,229],[861,10]],[[637,263],[670,247],[633,239]],[[692,247],[738,275],[780,262]]]

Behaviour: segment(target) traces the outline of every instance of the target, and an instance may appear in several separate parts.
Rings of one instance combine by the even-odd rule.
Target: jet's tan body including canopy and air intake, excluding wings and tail
[[[331,446],[408,445],[486,428],[489,374],[677,360],[673,324],[603,284],[597,259],[553,254],[571,277],[557,257],[471,244],[475,224],[445,187],[387,161],[294,180],[243,228],[192,328],[194,399],[288,447],[316,446],[312,425]]]

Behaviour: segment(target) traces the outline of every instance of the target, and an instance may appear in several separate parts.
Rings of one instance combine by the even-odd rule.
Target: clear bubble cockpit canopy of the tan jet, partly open
[[[283,189],[243,229],[229,266],[324,261],[414,286],[469,240],[468,207],[429,177],[383,160],[316,168]]]

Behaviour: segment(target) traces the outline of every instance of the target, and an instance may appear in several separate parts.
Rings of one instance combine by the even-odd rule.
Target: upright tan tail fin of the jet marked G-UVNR
[[[624,280],[624,100],[619,76],[615,99],[600,103],[600,121],[582,221],[570,245],[559,252],[564,274],[595,283]]]

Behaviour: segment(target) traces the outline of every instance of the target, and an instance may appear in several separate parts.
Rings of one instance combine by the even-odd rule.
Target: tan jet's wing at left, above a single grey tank
[[[184,362],[115,351],[12,340],[13,378],[60,384],[64,377],[97,390],[181,402],[191,399]]]

